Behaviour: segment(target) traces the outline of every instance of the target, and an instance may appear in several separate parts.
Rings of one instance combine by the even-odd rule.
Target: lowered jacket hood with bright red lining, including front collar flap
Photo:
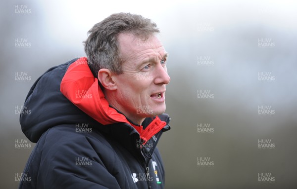
[[[158,117],[145,127],[134,125],[109,107],[87,58],[73,59],[40,76],[26,97],[24,109],[31,113],[21,113],[22,131],[35,143],[49,128],[60,124],[88,122],[99,126],[122,122],[134,127],[145,141],[166,126]]]

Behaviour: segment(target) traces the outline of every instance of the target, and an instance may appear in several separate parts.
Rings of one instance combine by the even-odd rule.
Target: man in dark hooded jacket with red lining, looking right
[[[164,188],[156,144],[170,129],[170,77],[158,32],[140,15],[110,15],[89,31],[87,58],[37,79],[20,116],[37,142],[20,189]]]

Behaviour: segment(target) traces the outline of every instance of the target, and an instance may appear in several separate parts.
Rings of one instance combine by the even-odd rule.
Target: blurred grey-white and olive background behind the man
[[[296,10],[294,0],[1,1],[0,188],[17,188],[35,146],[19,123],[35,80],[85,56],[94,24],[131,12],[158,25],[169,53],[166,189],[296,189]]]

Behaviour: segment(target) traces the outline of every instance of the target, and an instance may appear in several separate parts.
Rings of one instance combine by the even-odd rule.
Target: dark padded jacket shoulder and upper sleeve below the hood
[[[110,171],[115,161],[112,147],[91,127],[89,132],[79,132],[73,125],[52,127],[36,148],[28,172],[37,173],[32,179],[37,188],[120,188]]]

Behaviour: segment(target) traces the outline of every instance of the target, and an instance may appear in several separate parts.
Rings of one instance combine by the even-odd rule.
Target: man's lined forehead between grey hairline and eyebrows
[[[137,37],[133,34],[121,33],[118,36],[120,56],[123,61],[139,62],[143,59],[161,60],[166,56],[162,43],[155,36]]]

